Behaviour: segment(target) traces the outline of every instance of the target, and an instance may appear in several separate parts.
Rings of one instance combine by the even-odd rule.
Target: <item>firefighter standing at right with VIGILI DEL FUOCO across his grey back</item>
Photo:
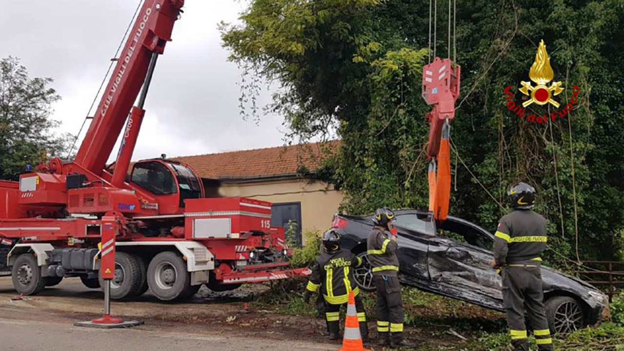
[[[540,254],[548,240],[546,219],[532,210],[535,189],[519,183],[507,192],[514,210],[500,219],[492,267],[502,274],[507,324],[515,350],[529,351],[524,315],[528,312],[537,347],[553,350],[544,310]]]

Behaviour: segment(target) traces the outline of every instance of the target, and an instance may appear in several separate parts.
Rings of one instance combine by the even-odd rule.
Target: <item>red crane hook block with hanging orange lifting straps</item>
[[[429,182],[429,211],[438,222],[446,220],[451,197],[451,121],[455,117],[455,102],[459,96],[461,68],[451,59],[436,57],[422,69],[422,97],[432,105],[427,113],[429,142],[427,157],[431,160]]]

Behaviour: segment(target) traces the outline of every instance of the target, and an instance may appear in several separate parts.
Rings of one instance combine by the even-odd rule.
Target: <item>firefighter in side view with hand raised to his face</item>
[[[396,257],[397,232],[392,225],[394,212],[377,209],[373,215],[375,225],[368,235],[368,259],[373,268],[377,287],[377,330],[379,344],[391,347],[415,347],[403,339],[403,302],[401,284],[397,278],[399,259]]]

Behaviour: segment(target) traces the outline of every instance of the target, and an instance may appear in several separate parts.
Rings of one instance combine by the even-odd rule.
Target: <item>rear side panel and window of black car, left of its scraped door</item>
[[[435,232],[431,216],[418,212],[398,212],[393,221],[399,237],[397,257],[401,273],[417,279],[429,279],[427,250],[429,239]]]

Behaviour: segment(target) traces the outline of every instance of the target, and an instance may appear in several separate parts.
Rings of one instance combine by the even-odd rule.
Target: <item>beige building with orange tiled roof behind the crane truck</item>
[[[343,200],[332,184],[305,176],[338,152],[340,141],[175,157],[202,177],[209,197],[251,197],[273,203],[271,225],[326,230]],[[305,172],[301,172],[305,171]]]

